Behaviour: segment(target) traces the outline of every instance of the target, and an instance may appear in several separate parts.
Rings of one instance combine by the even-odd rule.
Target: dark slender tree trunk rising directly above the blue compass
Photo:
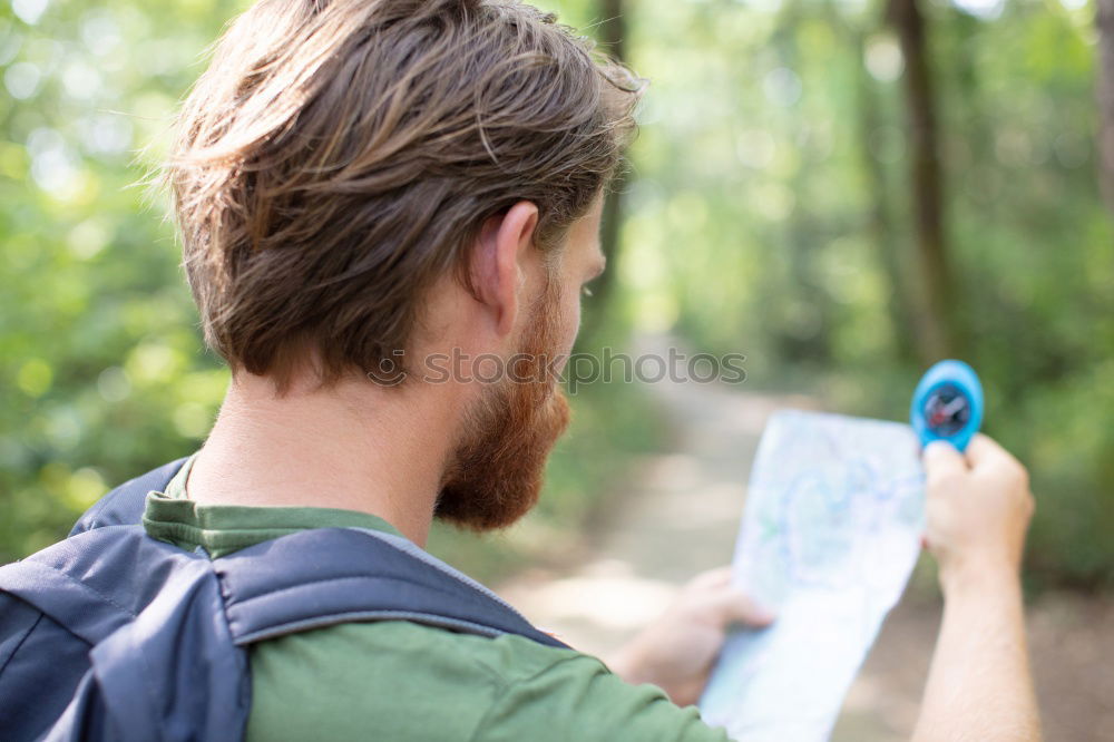
[[[912,214],[917,263],[928,316],[920,344],[935,358],[956,352],[955,294],[944,232],[944,176],[939,160],[936,99],[928,64],[925,17],[917,0],[890,0],[889,20],[905,56],[903,76],[909,125]]]

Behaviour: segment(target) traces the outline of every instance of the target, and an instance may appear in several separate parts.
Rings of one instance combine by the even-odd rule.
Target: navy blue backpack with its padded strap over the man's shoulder
[[[554,647],[479,583],[411,541],[319,528],[209,559],[146,535],[150,490],[121,485],[70,536],[0,567],[0,740],[241,739],[247,647],[352,621],[411,621]]]

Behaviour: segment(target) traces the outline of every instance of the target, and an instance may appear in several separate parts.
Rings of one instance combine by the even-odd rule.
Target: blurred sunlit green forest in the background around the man
[[[0,4],[2,560],[213,420],[227,371],[148,182],[244,4]],[[1114,587],[1114,0],[538,4],[649,81],[580,349],[667,333],[897,420],[964,359],[1032,472],[1027,580]],[[668,441],[636,385],[573,401],[530,534],[577,529]]]

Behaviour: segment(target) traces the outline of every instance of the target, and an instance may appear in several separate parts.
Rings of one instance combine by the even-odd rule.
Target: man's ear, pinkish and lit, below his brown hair
[[[472,251],[472,290],[476,299],[489,309],[495,332],[500,336],[510,334],[518,320],[518,290],[537,226],[538,207],[520,201],[483,223]]]

